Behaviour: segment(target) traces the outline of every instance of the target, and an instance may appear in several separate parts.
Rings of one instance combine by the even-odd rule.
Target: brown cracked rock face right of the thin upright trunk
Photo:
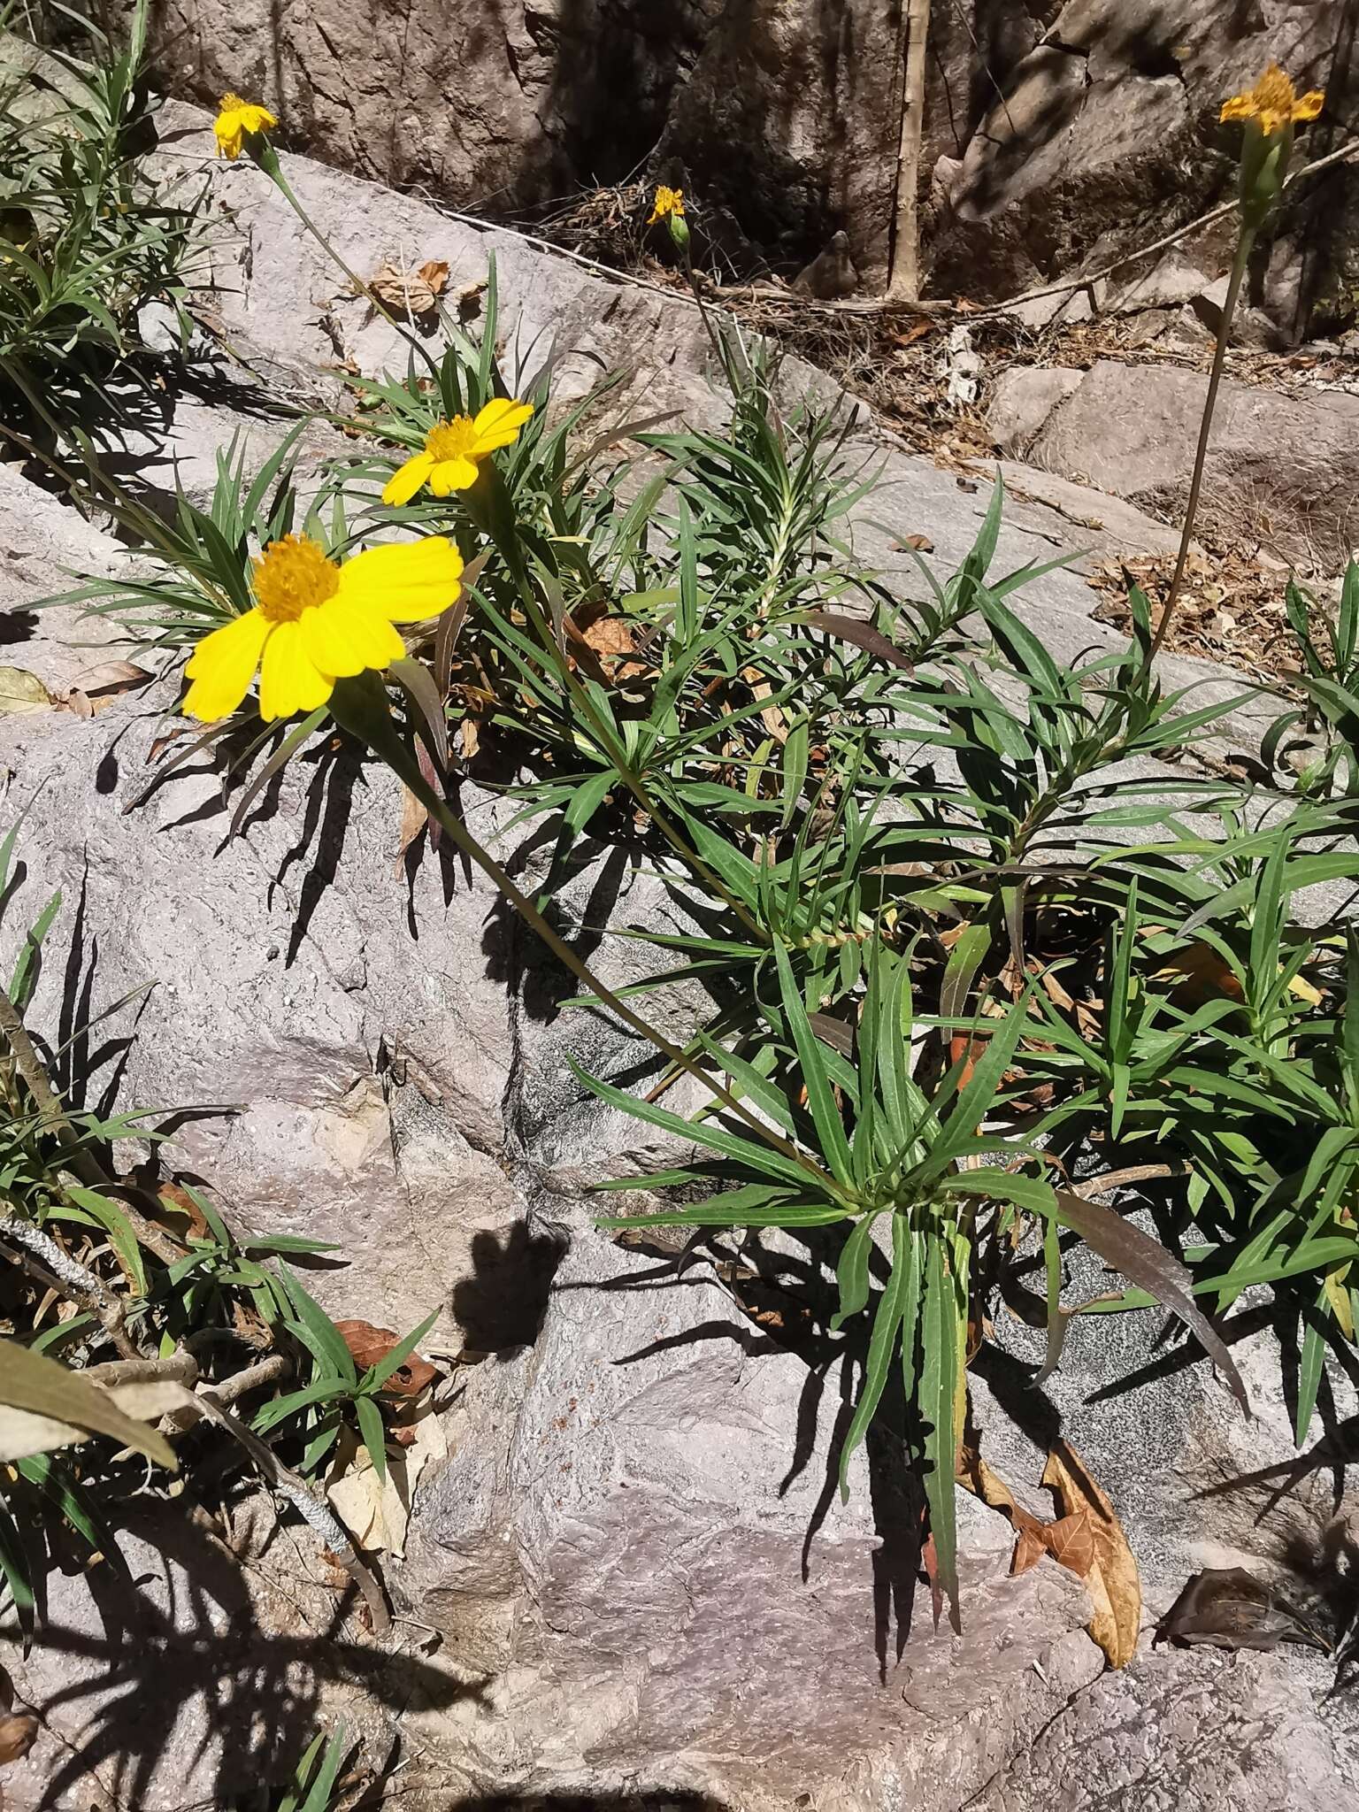
[[[1065,5],[935,7],[922,178],[939,294],[1002,297],[1111,263],[1232,194],[1238,140],[1218,125],[1227,96],[1270,60],[1299,89],[1323,87],[1346,118],[1354,20],[1343,0],[1067,0]],[[1339,143],[1325,125],[1297,163]],[[1319,181],[1287,208],[1268,306],[1290,332],[1334,313],[1352,268],[1345,221],[1359,178]],[[1194,241],[1214,268],[1230,221]],[[1350,303],[1352,306],[1352,303]]]

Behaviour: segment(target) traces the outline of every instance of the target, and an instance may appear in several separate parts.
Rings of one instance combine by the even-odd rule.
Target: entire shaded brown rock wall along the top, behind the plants
[[[792,274],[844,230],[866,288],[888,272],[897,7],[167,0],[158,33],[170,92],[250,91],[284,143],[399,188],[513,214],[651,169],[683,179],[737,261],[757,246]],[[1326,87],[1332,118],[1352,111],[1346,0],[935,5],[928,43],[919,194],[937,294],[1015,294],[1205,212],[1236,154],[1218,109],[1270,58]],[[1305,141],[1334,149],[1325,125]],[[1359,176],[1341,170],[1285,216],[1279,321],[1350,295],[1357,207]],[[1207,259],[1221,263],[1229,232],[1203,243]]]

